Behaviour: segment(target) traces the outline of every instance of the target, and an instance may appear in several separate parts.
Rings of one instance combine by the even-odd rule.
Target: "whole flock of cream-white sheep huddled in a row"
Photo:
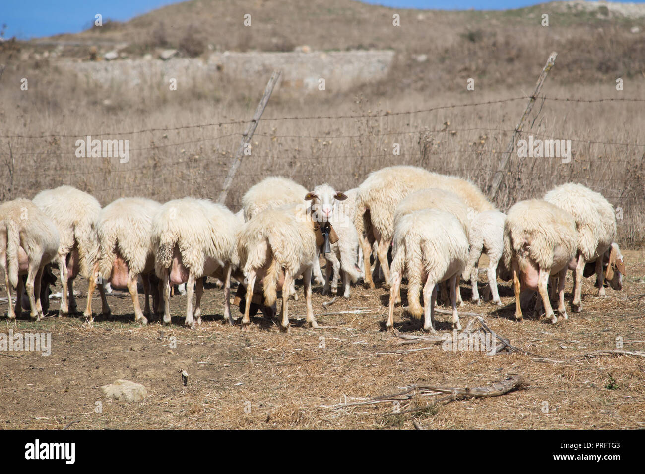
[[[546,319],[555,324],[547,285],[551,281],[551,298],[557,293],[558,313],[566,319],[567,270],[573,271],[574,311],[582,310],[583,276],[596,273],[601,296],[605,282],[615,290],[622,288],[625,268],[615,237],[613,206],[581,184],[563,184],[543,199],[517,202],[504,215],[469,181],[415,166],[372,172],[358,188],[344,193],[328,184],[308,191],[291,179],[268,177],[246,192],[237,213],[190,197],[165,204],[126,197],[101,209],[94,197],[71,186],[45,190],[32,201],[0,204],[0,265],[9,319],[21,312],[25,290],[32,319],[42,319],[48,286],[43,275],[52,275],[52,264],[63,286],[60,315],[75,310],[75,276],[88,279],[84,316],[90,322],[97,287],[102,312],[110,313],[104,288],[109,282],[130,291],[135,321],[148,322],[152,295],[154,313],[161,311],[163,302],[163,321],[170,324],[171,291],[175,284],[186,284],[184,324],[192,328],[201,324],[204,277],[211,276],[223,284],[225,322],[233,324],[230,299],[235,279],[235,303],[244,308],[243,329],[257,311],[273,317],[280,296],[281,328],[286,330],[288,302],[290,297],[297,299],[295,281],[302,278],[306,321],[317,327],[312,279],[324,284],[327,294],[337,293],[342,277],[343,296],[349,298],[352,282],[363,279],[375,288],[381,276],[390,286],[388,329],[393,327],[395,305],[401,303],[404,277],[408,310],[417,319],[424,315],[424,330],[435,331],[437,291],[441,288],[443,293],[446,286],[453,325],[461,329],[460,280],[471,282],[472,300],[479,304],[477,265],[486,253],[493,304],[502,305],[497,278],[511,280],[515,318],[522,319],[521,302],[539,291],[536,311],[543,305]],[[145,292],[143,311],[139,281]],[[15,309],[12,290],[17,295]]]

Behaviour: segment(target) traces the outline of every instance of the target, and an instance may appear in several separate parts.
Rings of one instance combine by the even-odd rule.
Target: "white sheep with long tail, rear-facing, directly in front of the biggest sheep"
[[[457,313],[457,280],[468,260],[468,238],[452,213],[439,209],[423,209],[401,215],[394,230],[396,252],[392,260],[390,312],[386,328],[394,324],[394,305],[401,288],[401,279],[408,277],[408,310],[416,319],[425,315],[424,330],[435,331],[434,313],[437,284],[450,281],[453,326],[461,330]],[[419,303],[423,286],[425,308]]]

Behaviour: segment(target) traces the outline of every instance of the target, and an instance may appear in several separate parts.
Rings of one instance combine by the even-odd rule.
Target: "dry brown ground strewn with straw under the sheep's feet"
[[[384,331],[388,293],[382,288],[352,288],[348,301],[314,288],[316,315],[370,310],[366,314],[318,316],[321,328],[304,323],[304,298],[292,302],[288,333],[276,321],[253,319],[248,333],[222,325],[221,290],[204,293],[203,324],[184,329],[185,298],[171,302],[173,325],[134,322],[129,295],[108,297],[114,316],[98,317],[92,326],[76,317],[17,322],[0,320],[0,332],[52,333],[52,355],[0,353],[0,429],[15,428],[643,428],[645,426],[645,359],[639,357],[577,358],[595,350],[645,348],[645,252],[624,251],[628,275],[623,291],[610,288],[607,299],[595,296],[593,277],[584,282],[582,313],[553,326],[526,314],[513,321],[513,298],[501,284],[504,308],[468,301],[462,286],[463,312],[484,315],[491,330],[522,350],[562,363],[536,362],[534,355],[483,351],[444,351],[441,345],[401,345]],[[482,284],[482,283],[481,283]],[[84,306],[84,288],[79,308]],[[571,288],[568,278],[567,290]],[[3,296],[4,288],[2,288]],[[302,295],[302,292],[300,291]],[[404,300],[405,301],[405,300]],[[50,311],[57,310],[52,303]],[[95,301],[100,310],[100,301]],[[6,312],[6,303],[0,304]],[[233,315],[239,317],[233,307]],[[470,317],[462,315],[462,326]],[[420,322],[400,309],[395,328],[421,334]],[[450,315],[437,316],[440,333],[450,332]],[[176,347],[172,348],[172,337]],[[324,339],[321,339],[324,338]],[[324,341],[324,344],[322,343]],[[632,342],[635,341],[635,342]],[[409,352],[402,352],[409,351]],[[183,385],[181,371],[189,374]],[[522,375],[530,384],[500,397],[466,399],[432,406],[428,397],[401,403],[388,415],[391,402],[324,408],[401,391],[407,384],[487,386],[508,375]],[[103,397],[100,386],[128,379],[146,386],[144,402],[126,404]],[[102,410],[98,410],[101,402]]]

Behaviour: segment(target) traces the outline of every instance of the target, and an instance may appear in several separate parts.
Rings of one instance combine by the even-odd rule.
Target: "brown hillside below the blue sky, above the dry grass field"
[[[401,15],[401,26],[392,25],[394,13]],[[244,14],[251,15],[251,26],[243,25]],[[541,25],[543,14],[549,15],[549,26]],[[119,43],[121,54],[129,56],[159,48],[178,48],[184,56],[291,51],[305,44],[322,51],[392,48],[398,63],[391,80],[375,84],[372,92],[433,93],[463,90],[468,77],[486,89],[524,83],[524,77],[532,83],[551,50],[559,52],[551,80],[561,84],[640,77],[644,16],[645,5],[581,1],[446,12],[351,0],[192,0],[46,41],[72,44],[63,54],[77,57],[87,56],[89,44],[104,53]]]

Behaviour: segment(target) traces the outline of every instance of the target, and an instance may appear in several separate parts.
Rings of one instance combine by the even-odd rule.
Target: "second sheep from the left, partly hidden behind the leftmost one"
[[[54,221],[58,230],[60,248],[57,265],[63,286],[59,313],[73,313],[76,309],[74,278],[80,273],[88,279],[88,286],[92,286],[96,278],[95,266],[99,259],[96,221],[99,219],[101,204],[93,196],[72,186],[41,191],[32,201]],[[102,301],[103,311],[107,311],[106,301]],[[91,298],[87,300],[84,315],[92,316]]]

